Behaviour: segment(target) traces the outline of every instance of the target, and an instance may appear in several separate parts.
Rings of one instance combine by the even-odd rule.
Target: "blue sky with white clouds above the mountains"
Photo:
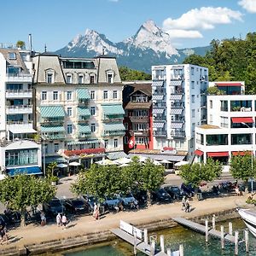
[[[178,48],[256,32],[256,0],[22,0],[3,1],[0,43],[22,40],[44,51],[61,49],[86,28],[118,43],[154,20]]]

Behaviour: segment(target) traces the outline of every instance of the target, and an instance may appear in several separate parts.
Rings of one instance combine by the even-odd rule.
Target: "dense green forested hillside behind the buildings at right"
[[[210,81],[245,81],[246,93],[256,94],[256,32],[244,40],[212,40],[205,57],[190,55],[183,63],[209,68]]]

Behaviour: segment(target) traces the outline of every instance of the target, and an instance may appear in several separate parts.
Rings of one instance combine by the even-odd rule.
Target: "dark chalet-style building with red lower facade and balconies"
[[[123,90],[126,153],[135,148],[153,149],[151,84],[126,84]],[[134,148],[128,145],[131,137],[135,137]]]

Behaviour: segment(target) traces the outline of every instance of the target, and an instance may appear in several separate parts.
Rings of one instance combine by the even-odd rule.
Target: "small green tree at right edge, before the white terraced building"
[[[255,158],[253,158],[252,170],[252,155],[250,153],[246,153],[245,155],[232,155],[230,160],[230,172],[233,177],[241,178],[244,182],[247,182],[249,177],[256,177],[255,164]]]

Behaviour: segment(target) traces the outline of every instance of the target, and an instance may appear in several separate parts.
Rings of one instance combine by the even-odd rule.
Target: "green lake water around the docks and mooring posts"
[[[233,230],[240,230],[240,237],[242,238],[242,229],[245,228],[243,222],[239,219],[232,220]],[[228,230],[228,222],[221,223],[224,225],[224,231]],[[217,224],[217,229],[219,230],[220,224]],[[160,230],[151,235],[156,235],[158,241],[160,240],[160,235],[165,236],[166,247],[171,247],[172,251],[177,250],[179,244],[183,244],[184,255],[196,255],[196,256],[233,256],[235,252],[234,245],[225,244],[224,250],[220,248],[220,241],[212,237],[209,238],[208,244],[205,241],[205,236],[195,233],[194,231],[187,230],[181,226],[177,226],[168,230]],[[249,255],[256,255],[256,239],[250,235],[250,253]],[[57,255],[64,256],[131,256],[133,255],[133,247],[128,245],[126,242],[116,239],[108,243],[100,244],[93,247],[82,247],[73,251],[67,251],[62,253],[57,253]],[[143,253],[137,253],[138,256],[145,255]],[[239,255],[246,255],[244,244],[239,247]]]

